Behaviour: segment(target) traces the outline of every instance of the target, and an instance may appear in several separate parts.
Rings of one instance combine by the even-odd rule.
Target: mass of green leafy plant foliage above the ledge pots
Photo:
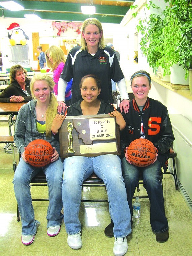
[[[187,78],[192,58],[192,4],[188,0],[164,2],[168,5],[165,10],[160,11],[157,5],[149,1],[145,8],[156,9],[158,14],[138,19],[136,29],[142,34],[141,50],[154,71],[161,66],[164,68],[164,75],[170,75],[170,67],[178,63],[186,70]],[[134,8],[137,6],[131,6],[131,9]],[[136,17],[137,13],[133,16]]]

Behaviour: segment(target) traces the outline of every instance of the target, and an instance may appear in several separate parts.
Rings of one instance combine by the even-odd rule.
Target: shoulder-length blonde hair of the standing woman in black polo
[[[85,32],[85,28],[89,24],[96,25],[98,27],[98,29],[99,29],[99,33],[103,32],[102,25],[101,25],[100,21],[98,21],[96,18],[88,18],[88,19],[86,19],[83,22],[83,25],[82,25],[82,32]],[[101,36],[101,38],[99,40],[98,48],[100,48],[100,49],[104,49],[105,48],[103,33],[102,33],[102,36]],[[86,49],[87,49],[87,43],[86,43],[85,38],[83,38],[82,33],[81,33],[81,49],[80,50],[85,51]]]

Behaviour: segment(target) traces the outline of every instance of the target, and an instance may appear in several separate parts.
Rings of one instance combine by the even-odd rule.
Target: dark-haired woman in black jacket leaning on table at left
[[[30,92],[30,79],[27,71],[20,65],[10,69],[10,85],[0,93],[0,102],[28,102],[32,100]]]

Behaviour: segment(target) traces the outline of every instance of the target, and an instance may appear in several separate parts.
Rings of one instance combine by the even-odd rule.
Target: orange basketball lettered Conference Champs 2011
[[[130,143],[127,155],[132,164],[145,167],[153,163],[156,150],[153,143],[148,139],[135,139]]]

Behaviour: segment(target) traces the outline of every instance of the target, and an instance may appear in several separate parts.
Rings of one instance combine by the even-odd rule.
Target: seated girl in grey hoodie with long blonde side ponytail
[[[31,94],[34,100],[24,104],[18,112],[14,141],[21,158],[15,171],[13,184],[22,220],[21,241],[24,245],[33,243],[39,222],[35,220],[30,193],[30,181],[41,170],[27,163],[25,149],[35,139],[48,141],[54,150],[51,163],[42,167],[46,175],[49,191],[47,209],[47,235],[56,236],[60,232],[63,219],[61,197],[63,163],[59,158],[59,143],[51,133],[51,124],[57,114],[57,100],[53,95],[53,79],[49,75],[38,74],[31,80]]]

